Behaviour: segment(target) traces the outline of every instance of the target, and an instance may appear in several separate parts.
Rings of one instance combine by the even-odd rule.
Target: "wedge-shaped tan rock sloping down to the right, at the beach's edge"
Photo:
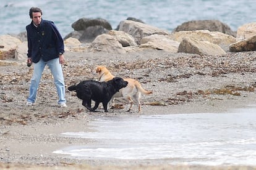
[[[197,41],[195,39],[184,38],[179,44],[178,52],[185,52],[199,55],[221,55],[226,52],[220,46],[209,41]]]

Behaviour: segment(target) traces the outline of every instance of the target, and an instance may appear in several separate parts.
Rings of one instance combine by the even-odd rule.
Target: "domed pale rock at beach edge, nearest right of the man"
[[[91,52],[101,51],[119,54],[124,54],[126,52],[123,49],[122,44],[120,44],[114,36],[109,34],[101,34],[97,36],[88,47],[88,50]]]

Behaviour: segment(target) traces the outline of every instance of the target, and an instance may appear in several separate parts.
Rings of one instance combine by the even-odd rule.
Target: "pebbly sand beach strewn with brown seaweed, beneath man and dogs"
[[[25,105],[32,67],[23,63],[0,70],[0,169],[256,169],[250,166],[171,165],[171,160],[79,160],[53,151],[70,145],[93,144],[93,139],[63,137],[62,132],[89,131],[95,116],[178,113],[225,113],[245,108],[256,99],[256,52],[221,56],[168,53],[147,50],[127,54],[66,52],[63,65],[67,108],[58,107],[53,78],[46,68],[35,105]],[[117,100],[119,108],[105,113],[82,106],[67,87],[85,79],[97,79],[95,67],[105,65],[122,78],[137,79],[153,94],[142,95],[137,105]]]

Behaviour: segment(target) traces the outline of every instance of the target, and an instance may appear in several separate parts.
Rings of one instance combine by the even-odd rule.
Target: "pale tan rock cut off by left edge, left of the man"
[[[14,59],[15,49],[22,42],[20,39],[10,35],[0,36],[0,60]]]

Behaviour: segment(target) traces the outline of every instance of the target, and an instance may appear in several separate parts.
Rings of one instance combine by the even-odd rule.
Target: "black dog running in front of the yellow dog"
[[[112,96],[126,87],[128,84],[124,79],[115,77],[107,82],[94,80],[81,81],[79,84],[68,87],[69,91],[77,92],[77,97],[83,100],[82,105],[90,111],[95,111],[102,102],[105,112],[108,112],[108,102]],[[95,106],[92,108],[92,100]]]

